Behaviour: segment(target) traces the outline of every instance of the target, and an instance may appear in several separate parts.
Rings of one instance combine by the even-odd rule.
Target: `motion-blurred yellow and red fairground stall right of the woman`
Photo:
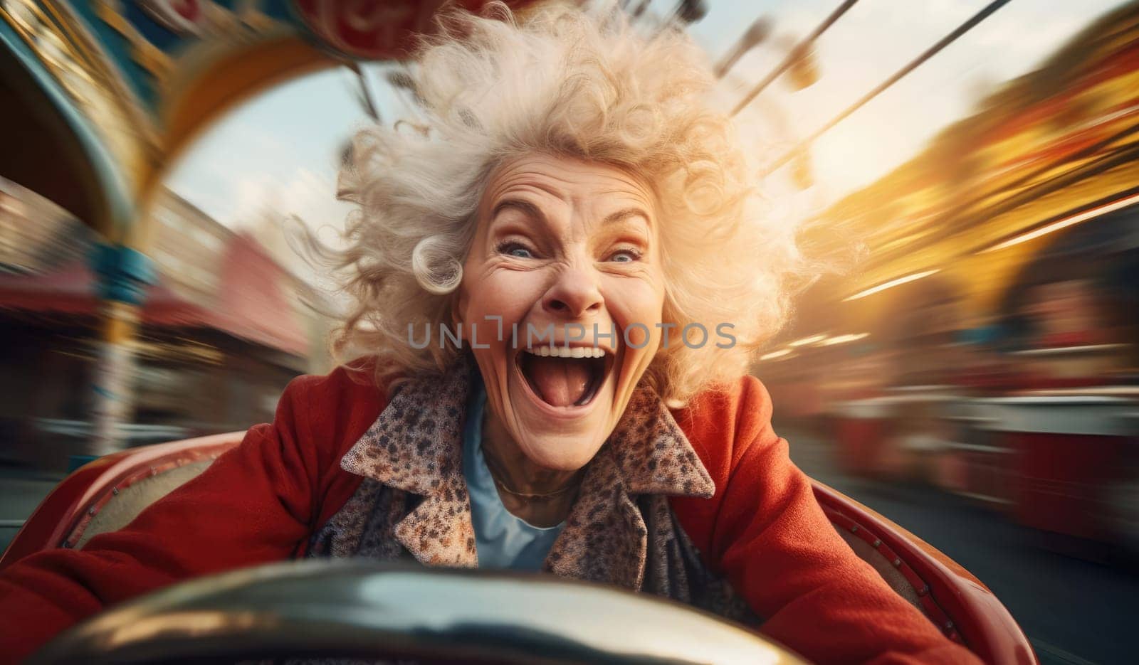
[[[1139,6],[804,232],[846,269],[756,368],[867,477],[1139,544]],[[861,247],[854,252],[851,247]]]

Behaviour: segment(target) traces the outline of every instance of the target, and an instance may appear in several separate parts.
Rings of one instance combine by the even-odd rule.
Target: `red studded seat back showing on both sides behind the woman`
[[[144,508],[238,445],[244,432],[134,448],[90,462],[40,503],[0,556],[0,570],[51,548],[82,548],[130,523]],[[947,637],[986,663],[1034,665],[1027,638],[988,586],[890,519],[819,482],[814,496],[854,552]]]

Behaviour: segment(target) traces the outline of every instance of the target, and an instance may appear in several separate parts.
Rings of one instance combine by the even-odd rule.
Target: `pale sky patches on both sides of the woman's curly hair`
[[[861,0],[817,43],[819,81],[793,91],[777,81],[741,114],[760,162],[775,159],[890,76],[989,0]],[[654,0],[664,15],[675,0]],[[788,215],[805,217],[865,187],[920,151],[941,128],[969,114],[1001,82],[1032,71],[1120,0],[1014,0],[820,138],[811,148],[813,186],[789,184],[788,170],[765,189]],[[739,99],[814,28],[838,0],[707,0],[708,14],[690,26],[718,61],[759,17],[771,36],[723,81]],[[410,106],[384,83],[392,65],[366,69],[385,122]],[[339,228],[350,207],[335,200],[337,157],[368,122],[346,69],[310,74],[263,92],[207,128],[172,166],[167,184],[207,214],[249,228],[269,207],[297,214],[312,228]],[[329,229],[330,228],[330,229]],[[269,240],[267,245],[274,245]]]

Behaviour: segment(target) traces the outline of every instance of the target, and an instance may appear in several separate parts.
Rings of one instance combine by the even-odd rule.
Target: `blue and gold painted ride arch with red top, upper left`
[[[105,199],[101,211],[73,212],[110,239],[129,243],[138,221],[136,208],[159,181],[163,164],[212,114],[243,91],[306,67],[403,57],[416,35],[432,30],[433,16],[444,5],[444,0],[369,2],[5,0],[0,3],[0,19],[6,19],[0,20],[0,46],[19,64],[8,68],[22,74],[9,75],[32,82],[23,85],[21,97],[50,108],[51,131],[38,129],[51,139],[44,143],[64,137],[67,146],[77,147],[63,151],[83,155],[89,164],[66,166],[81,175],[84,189],[103,190],[87,196]],[[446,2],[467,9],[485,3]],[[530,2],[507,0],[511,7]],[[187,7],[202,9],[190,23],[179,14]],[[34,30],[27,27],[28,22],[35,24]],[[66,54],[48,48],[55,44]],[[72,83],[60,83],[62,74],[73,76],[72,83],[79,80],[93,87],[98,102],[90,102]],[[92,112],[108,122],[91,121],[87,114]],[[30,126],[44,125],[27,114],[21,117]],[[42,154],[33,143],[25,149]],[[47,170],[35,166],[41,175]],[[54,198],[47,191],[40,194]]]

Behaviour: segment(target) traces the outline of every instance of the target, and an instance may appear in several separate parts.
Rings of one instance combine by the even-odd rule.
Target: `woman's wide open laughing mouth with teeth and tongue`
[[[585,346],[540,346],[518,353],[518,370],[530,389],[551,407],[584,407],[597,395],[612,355]]]

